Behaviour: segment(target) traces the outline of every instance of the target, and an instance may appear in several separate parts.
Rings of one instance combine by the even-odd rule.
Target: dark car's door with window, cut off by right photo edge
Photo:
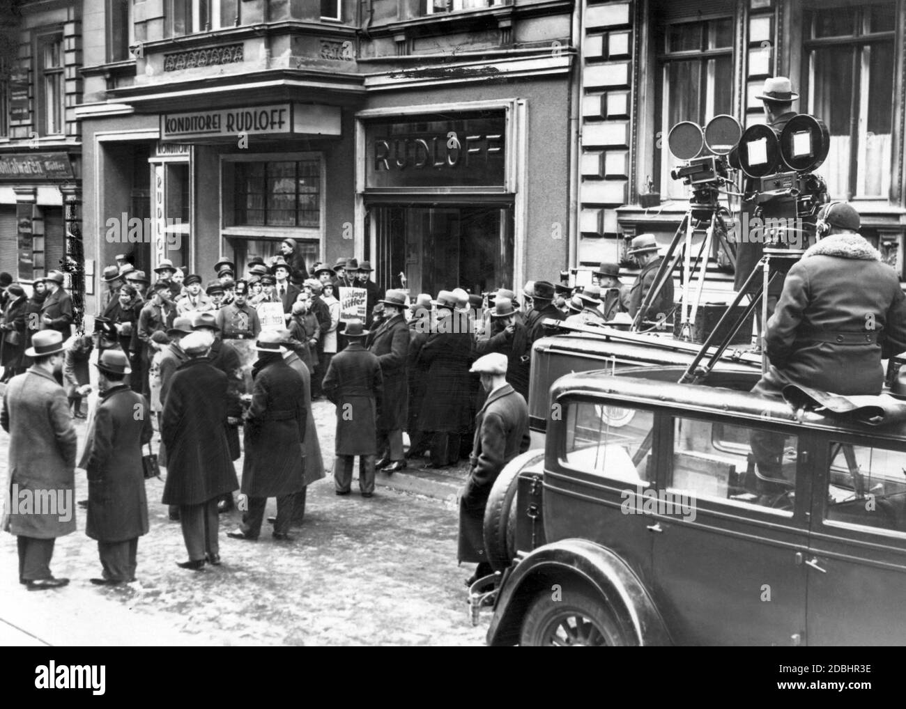
[[[806,642],[906,642],[906,446],[822,436],[806,569]]]

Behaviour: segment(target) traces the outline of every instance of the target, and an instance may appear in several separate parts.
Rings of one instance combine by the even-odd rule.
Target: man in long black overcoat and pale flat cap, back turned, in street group
[[[226,442],[226,374],[207,360],[212,338],[191,332],[182,339],[189,359],[170,380],[160,436],[167,446],[164,504],[179,507],[188,560],[183,569],[199,570],[205,560],[220,563],[217,501],[239,486]]]

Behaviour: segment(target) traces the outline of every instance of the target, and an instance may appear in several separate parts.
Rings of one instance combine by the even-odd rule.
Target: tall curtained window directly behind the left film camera
[[[654,172],[660,173],[661,194],[683,199],[686,188],[670,178],[677,164],[666,149],[667,136],[680,120],[703,126],[718,114],[732,113],[733,19],[671,20],[658,27],[656,42],[660,81],[655,81],[655,125],[660,140]]]

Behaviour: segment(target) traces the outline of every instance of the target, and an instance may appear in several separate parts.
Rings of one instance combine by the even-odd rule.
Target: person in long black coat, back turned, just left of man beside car
[[[472,336],[462,313],[454,311],[456,298],[441,291],[436,332],[421,348],[420,361],[428,365],[419,428],[433,434],[431,467],[455,465],[460,439],[468,429],[472,407]],[[441,312],[446,311],[446,312]]]

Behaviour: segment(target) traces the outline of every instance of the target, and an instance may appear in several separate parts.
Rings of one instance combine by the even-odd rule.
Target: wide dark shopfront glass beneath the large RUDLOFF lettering
[[[472,293],[512,287],[510,205],[372,206],[370,223],[382,289],[437,296],[456,287]]]

